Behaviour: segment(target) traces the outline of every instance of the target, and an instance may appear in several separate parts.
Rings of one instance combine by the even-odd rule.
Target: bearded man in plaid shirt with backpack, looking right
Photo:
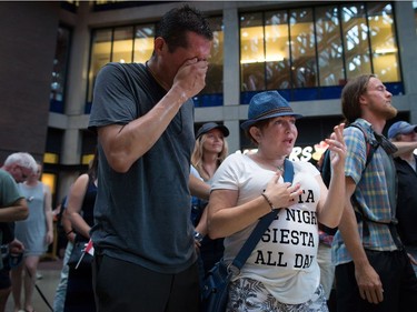
[[[338,312],[405,312],[417,306],[417,279],[396,232],[397,151],[381,133],[396,117],[393,94],[373,74],[349,81],[341,93],[345,141],[345,210],[334,238]],[[375,143],[369,158],[370,142]]]

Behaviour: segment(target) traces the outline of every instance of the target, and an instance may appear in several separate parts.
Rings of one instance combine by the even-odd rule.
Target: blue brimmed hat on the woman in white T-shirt
[[[278,91],[266,91],[252,97],[249,103],[248,120],[240,127],[247,130],[254,123],[280,115],[294,115],[296,119],[301,114],[295,113]]]

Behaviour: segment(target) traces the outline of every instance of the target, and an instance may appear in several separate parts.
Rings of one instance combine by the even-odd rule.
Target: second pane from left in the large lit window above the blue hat
[[[287,11],[266,12],[265,24],[267,89],[289,89],[291,79]]]

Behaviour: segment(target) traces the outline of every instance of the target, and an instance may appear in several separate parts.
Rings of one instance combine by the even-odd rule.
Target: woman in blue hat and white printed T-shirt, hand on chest
[[[229,285],[227,311],[328,311],[316,255],[318,222],[338,225],[345,198],[344,124],[326,142],[331,151],[329,190],[309,162],[292,162],[292,183],[284,182],[300,118],[277,91],[256,94],[241,127],[258,147],[229,155],[211,184],[209,235],[225,238],[231,262],[258,220],[279,209],[238,275]]]

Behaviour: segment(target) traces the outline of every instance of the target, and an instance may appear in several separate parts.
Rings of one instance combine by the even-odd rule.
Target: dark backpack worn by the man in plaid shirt
[[[366,142],[366,163],[363,173],[365,172],[366,168],[368,167],[369,162],[373,160],[375,151],[378,149],[379,143],[375,140],[371,140],[367,131],[356,121],[350,123],[349,127],[356,127],[358,128],[365,138]],[[330,185],[330,179],[331,179],[331,164],[330,164],[330,150],[327,149],[322,155],[322,164],[321,164],[321,179],[322,182],[325,182],[326,187],[328,188]],[[360,215],[357,214],[357,218],[360,218]],[[319,229],[326,232],[329,235],[334,235],[337,232],[337,228],[330,229],[324,224],[319,224]]]

